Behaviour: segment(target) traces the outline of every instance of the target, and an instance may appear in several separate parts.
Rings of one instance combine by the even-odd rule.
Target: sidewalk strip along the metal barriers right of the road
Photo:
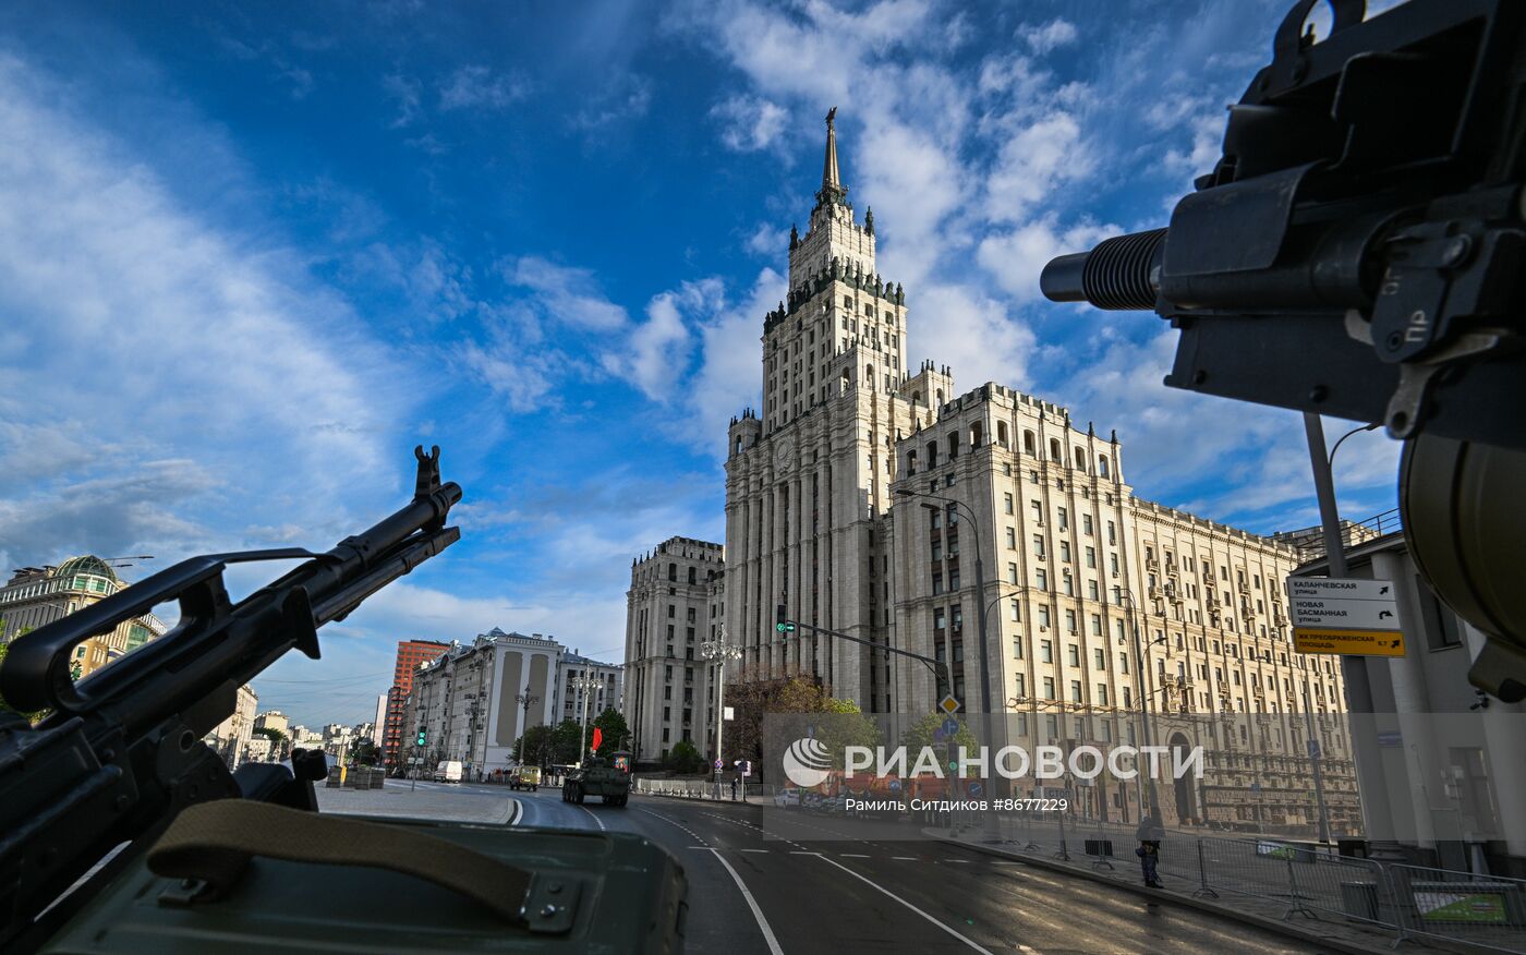
[[[957,834],[955,834],[957,833]],[[1173,905],[1184,905],[1189,908],[1201,909],[1204,912],[1212,912],[1219,917],[1235,918],[1245,924],[1253,924],[1260,929],[1268,929],[1273,932],[1282,932],[1283,935],[1308,941],[1312,946],[1320,946],[1325,949],[1335,949],[1340,952],[1352,952],[1360,955],[1389,955],[1395,950],[1393,929],[1383,929],[1381,926],[1367,926],[1358,921],[1349,921],[1331,914],[1322,914],[1315,917],[1294,915],[1293,918],[1283,918],[1288,911],[1285,902],[1274,902],[1270,899],[1257,899],[1251,896],[1219,896],[1213,897],[1195,897],[1193,891],[1198,889],[1198,882],[1186,879],[1183,876],[1161,871],[1161,882],[1166,885],[1164,889],[1151,889],[1143,885],[1140,876],[1140,867],[1129,857],[1112,857],[1106,859],[1105,863],[1094,860],[1090,856],[1077,851],[1080,842],[1077,841],[1076,848],[1071,848],[1067,854],[1070,860],[1054,857],[1058,853],[1056,847],[1039,847],[1024,848],[1019,842],[1000,842],[986,844],[981,842],[981,831],[978,828],[948,830],[948,828],[923,828],[922,834],[945,842],[949,845],[958,845],[967,850],[984,853],[987,856],[996,856],[1004,859],[1018,859],[1027,865],[1036,865],[1041,868],[1065,873],[1070,876],[1077,876],[1082,879],[1091,879],[1093,882],[1103,882],[1116,885],[1120,889],[1137,892],[1148,899],[1155,899],[1160,902],[1170,902]],[[1132,845],[1129,847],[1132,851]],[[1111,868],[1105,868],[1108,865]],[[1466,952],[1477,950],[1468,946],[1457,947],[1439,947],[1428,944],[1430,940],[1416,940],[1415,937],[1405,937],[1401,950],[1418,952],[1424,955],[1448,953],[1448,952]]]

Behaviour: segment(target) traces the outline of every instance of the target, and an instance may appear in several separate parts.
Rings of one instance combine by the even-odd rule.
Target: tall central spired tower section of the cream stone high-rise
[[[774,632],[792,619],[884,642],[891,625],[881,528],[905,397],[905,291],[874,261],[874,215],[859,223],[842,185],[836,110],[804,236],[790,229],[789,293],[763,319],[763,409],[731,424],[726,458],[728,641],[739,679],[806,674],[865,709],[890,708],[873,650]]]

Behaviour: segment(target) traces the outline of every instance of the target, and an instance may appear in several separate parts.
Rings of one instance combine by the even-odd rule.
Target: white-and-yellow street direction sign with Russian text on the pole
[[[1393,583],[1340,577],[1288,580],[1293,648],[1299,653],[1404,656]]]

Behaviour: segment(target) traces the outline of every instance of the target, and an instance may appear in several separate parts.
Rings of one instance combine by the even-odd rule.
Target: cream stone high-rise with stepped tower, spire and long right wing
[[[1351,740],[1328,719],[1343,709],[1340,670],[1293,651],[1297,549],[1137,497],[1117,435],[1062,406],[995,383],[961,394],[934,362],[908,369],[906,293],[879,275],[874,243],[829,119],[809,229],[790,230],[787,299],[763,320],[763,406],[728,430],[719,593],[691,586],[674,606],[723,621],[742,650],[728,685],[807,676],[885,714],[951,693],[1006,741],[1102,749],[1144,743],[1148,705],[1154,743],[1207,752],[1201,783],[1160,795],[1167,821],[1306,827],[1318,752],[1332,828],[1355,828]],[[687,648],[653,630],[679,593],[664,560],[636,561],[627,621],[627,662],[650,661],[650,687],[627,694],[647,746],[664,650],[682,662]],[[806,627],[783,638],[778,606],[868,645]],[[874,645],[932,658],[948,680]],[[1143,799],[1108,780],[1080,795],[1120,821]]]

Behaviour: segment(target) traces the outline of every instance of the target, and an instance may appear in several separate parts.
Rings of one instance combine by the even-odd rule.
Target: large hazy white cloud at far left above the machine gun
[[[3,497],[12,542],[49,549],[12,558],[133,537],[183,555],[226,516],[221,487],[238,526],[343,513],[357,474],[391,470],[382,435],[409,400],[395,360],[296,255],[191,214],[64,104],[0,58],[0,420],[11,439],[78,452]]]

